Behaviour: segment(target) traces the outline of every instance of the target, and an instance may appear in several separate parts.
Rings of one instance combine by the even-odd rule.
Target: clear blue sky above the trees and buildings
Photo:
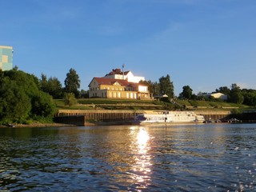
[[[0,45],[14,66],[88,90],[114,68],[170,74],[176,95],[237,83],[256,89],[255,0],[0,0]]]

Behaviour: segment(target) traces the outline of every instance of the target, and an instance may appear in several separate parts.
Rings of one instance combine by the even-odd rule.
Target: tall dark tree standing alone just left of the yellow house
[[[80,79],[77,72],[74,69],[70,69],[66,74],[65,79],[65,91],[66,93],[73,93],[76,98],[79,97]]]

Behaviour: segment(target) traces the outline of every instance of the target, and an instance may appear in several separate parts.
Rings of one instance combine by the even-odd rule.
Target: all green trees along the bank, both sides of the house
[[[166,94],[168,98],[174,98],[174,83],[170,81],[170,75],[162,76],[158,80],[140,83],[148,86],[154,97]],[[88,90],[79,88],[79,76],[72,68],[66,74],[64,87],[58,78],[47,78],[45,74],[37,78],[33,74],[18,70],[17,67],[13,70],[0,70],[0,124],[51,119],[56,112],[53,98],[64,98],[65,104],[70,106],[76,102],[76,98],[88,98]],[[227,102],[256,106],[256,90],[241,89],[234,83],[230,88],[222,86],[215,92],[226,94]],[[190,86],[183,86],[178,98],[216,101],[216,98],[204,97],[203,93],[193,94]]]

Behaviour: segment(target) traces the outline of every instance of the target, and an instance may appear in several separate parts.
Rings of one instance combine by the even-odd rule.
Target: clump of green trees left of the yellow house
[[[18,67],[0,70],[0,124],[50,122],[56,112],[53,98],[66,98],[66,104],[81,96],[80,80],[74,69],[66,74],[65,87],[58,78],[41,79]]]

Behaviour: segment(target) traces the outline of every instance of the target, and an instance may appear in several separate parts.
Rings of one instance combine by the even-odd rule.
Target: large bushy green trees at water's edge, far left
[[[36,115],[54,113],[54,107],[49,110],[42,106],[52,104],[51,98],[40,102],[44,93],[34,75],[15,69],[0,72],[0,77],[0,122],[25,122]]]

